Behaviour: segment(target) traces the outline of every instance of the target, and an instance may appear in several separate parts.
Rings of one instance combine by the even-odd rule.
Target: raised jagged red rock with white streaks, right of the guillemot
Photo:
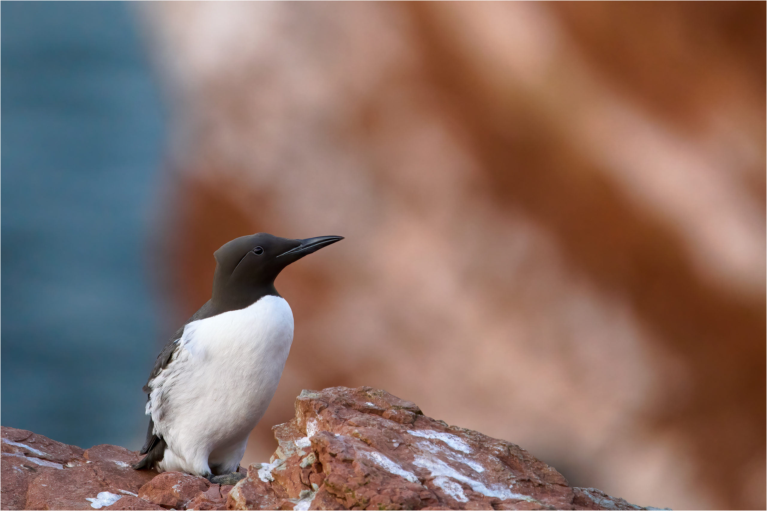
[[[386,391],[303,391],[229,509],[653,509],[565,477],[511,442],[448,426]]]

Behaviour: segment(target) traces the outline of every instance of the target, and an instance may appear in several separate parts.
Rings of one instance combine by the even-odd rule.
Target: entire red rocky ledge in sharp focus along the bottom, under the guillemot
[[[2,427],[2,509],[656,509],[572,488],[526,450],[421,413],[370,387],[302,391],[278,448],[235,486],[130,468],[114,445],[87,450]],[[241,469],[242,470],[242,469]]]

